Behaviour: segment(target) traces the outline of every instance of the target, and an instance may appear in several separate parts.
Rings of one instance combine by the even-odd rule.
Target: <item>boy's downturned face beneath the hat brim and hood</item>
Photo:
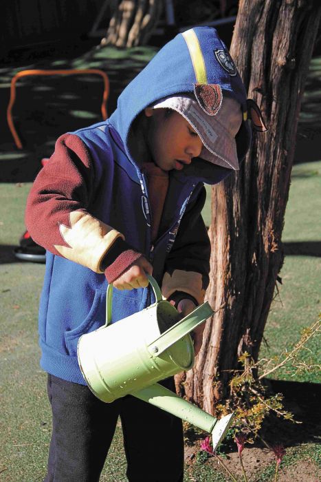
[[[145,115],[150,118],[147,144],[158,167],[180,171],[201,154],[201,138],[181,114],[147,107]]]

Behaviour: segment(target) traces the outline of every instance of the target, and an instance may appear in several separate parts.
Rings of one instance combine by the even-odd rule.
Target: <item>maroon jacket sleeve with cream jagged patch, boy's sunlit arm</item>
[[[102,273],[107,251],[124,236],[87,211],[93,190],[91,162],[78,136],[60,136],[27,198],[25,223],[34,241],[45,249]],[[126,242],[118,245],[118,251],[128,247]],[[131,257],[126,258],[126,266],[130,262]]]

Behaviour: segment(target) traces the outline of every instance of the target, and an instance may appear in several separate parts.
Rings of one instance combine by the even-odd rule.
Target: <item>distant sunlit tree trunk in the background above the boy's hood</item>
[[[115,9],[102,45],[134,47],[144,45],[162,12],[160,0],[122,0]]]

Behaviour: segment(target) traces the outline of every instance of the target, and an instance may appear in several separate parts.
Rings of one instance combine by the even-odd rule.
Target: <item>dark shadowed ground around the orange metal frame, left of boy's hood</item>
[[[157,52],[155,47],[131,49],[91,48],[70,58],[66,51],[25,65],[0,69],[0,104],[7,107],[12,76],[25,69],[98,68],[109,76],[110,94],[107,112],[110,115],[124,87]],[[16,101],[12,109],[14,127],[23,144],[16,148],[5,116],[0,118],[0,182],[31,182],[41,168],[41,159],[54,151],[58,136],[65,132],[102,121],[103,83],[100,77],[30,76],[16,85]]]

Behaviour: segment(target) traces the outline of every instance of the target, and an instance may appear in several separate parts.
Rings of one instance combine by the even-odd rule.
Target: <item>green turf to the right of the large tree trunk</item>
[[[261,357],[274,357],[300,339],[302,328],[311,325],[321,308],[321,161],[295,165],[283,243],[285,263],[280,271],[282,285],[272,302],[265,327],[267,344],[261,347]],[[320,364],[321,347],[318,337],[307,344],[300,359]],[[271,375],[278,379],[293,379],[289,367]],[[320,370],[296,375],[296,381],[320,383]]]

